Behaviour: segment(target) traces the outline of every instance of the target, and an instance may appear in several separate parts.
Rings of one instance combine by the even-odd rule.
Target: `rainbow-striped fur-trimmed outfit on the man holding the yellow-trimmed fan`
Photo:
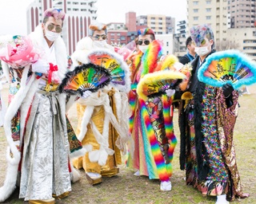
[[[140,90],[139,82],[147,74],[160,73],[163,69],[170,68],[178,59],[174,56],[165,57],[166,60],[160,61],[162,48],[158,41],[153,41],[146,53],[139,52],[133,56],[131,73],[132,85],[129,93],[129,102],[132,109],[130,116],[130,134],[134,139],[134,152],[129,152],[127,166],[138,169],[140,175],[147,175],[150,179],[160,179],[169,181],[172,175],[171,160],[173,159],[174,147],[177,143],[173,131],[171,112],[172,100],[165,94],[160,96],[164,128],[168,139],[168,157],[170,163],[165,163],[162,151],[158,144],[157,135],[150,121],[150,114],[147,108],[147,97],[142,97],[138,93]],[[169,63],[168,63],[169,62]],[[158,96],[159,97],[159,96]]]

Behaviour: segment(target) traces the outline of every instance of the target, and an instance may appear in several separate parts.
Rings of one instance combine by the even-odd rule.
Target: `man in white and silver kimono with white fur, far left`
[[[78,156],[82,146],[75,135],[71,135],[72,145],[69,143],[66,95],[58,92],[68,70],[66,45],[61,37],[64,18],[62,10],[46,10],[42,24],[29,36],[40,49],[40,58],[22,72],[8,68],[13,77],[10,81],[18,81],[20,88],[6,112],[10,154],[0,202],[10,197],[16,180],[19,198],[29,203],[54,203],[54,198],[70,194],[71,180],[78,179],[78,173],[70,166],[70,157]],[[14,128],[15,117],[18,123]]]

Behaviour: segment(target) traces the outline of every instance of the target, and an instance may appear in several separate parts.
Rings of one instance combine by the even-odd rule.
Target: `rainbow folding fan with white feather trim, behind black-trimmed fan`
[[[111,85],[123,92],[130,91],[129,68],[121,56],[107,49],[100,49],[89,53],[88,59],[94,65],[102,66],[110,72]]]

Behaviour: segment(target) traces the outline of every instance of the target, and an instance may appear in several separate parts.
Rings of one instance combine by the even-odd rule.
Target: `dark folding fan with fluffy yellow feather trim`
[[[138,83],[137,93],[142,100],[153,95],[162,95],[167,89],[178,86],[186,76],[171,70],[146,74]]]

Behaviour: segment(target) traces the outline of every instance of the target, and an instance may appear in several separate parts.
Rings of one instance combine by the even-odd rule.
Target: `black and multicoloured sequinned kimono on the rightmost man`
[[[235,196],[245,198],[233,143],[238,92],[233,92],[233,104],[227,106],[222,88],[198,81],[199,57],[192,66],[189,91],[193,99],[187,99],[186,109],[182,104],[179,116],[180,163],[181,169],[186,169],[186,184],[206,195],[227,194],[229,200],[234,200]]]

